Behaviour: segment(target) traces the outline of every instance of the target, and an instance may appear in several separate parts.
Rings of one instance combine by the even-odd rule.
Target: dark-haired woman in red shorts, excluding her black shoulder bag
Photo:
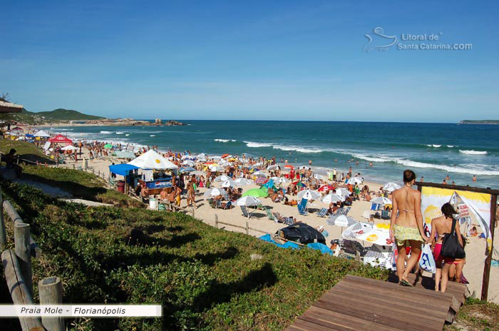
[[[433,218],[433,220],[431,220],[430,238],[433,248],[433,258],[435,258],[436,265],[435,290],[438,291],[438,283],[442,279],[440,290],[441,292],[446,292],[449,269],[451,269],[451,265],[455,262],[455,260],[453,258],[444,258],[440,252],[442,249],[444,235],[446,233],[453,232],[452,222],[454,220],[454,214],[457,214],[457,212],[450,203],[444,203],[441,210],[443,215],[439,218]],[[456,234],[458,235],[459,244],[464,247],[463,238],[461,238],[461,231],[459,229],[459,222],[456,222]]]

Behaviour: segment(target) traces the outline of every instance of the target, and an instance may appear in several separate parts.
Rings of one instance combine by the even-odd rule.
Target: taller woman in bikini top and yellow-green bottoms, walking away
[[[421,192],[412,186],[416,174],[412,170],[403,172],[403,188],[393,191],[393,210],[390,220],[390,238],[395,240],[398,250],[397,275],[399,284],[413,286],[407,275],[418,263],[421,244],[428,238],[424,234],[423,216],[421,215]],[[411,258],[406,264],[406,249],[411,246]]]

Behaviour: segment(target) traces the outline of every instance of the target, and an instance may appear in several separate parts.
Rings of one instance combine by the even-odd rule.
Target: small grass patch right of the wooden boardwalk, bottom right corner
[[[492,302],[468,299],[461,307],[456,321],[446,330],[499,330],[499,305]]]

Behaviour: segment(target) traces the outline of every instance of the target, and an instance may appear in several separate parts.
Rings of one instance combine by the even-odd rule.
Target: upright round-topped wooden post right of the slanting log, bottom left
[[[46,277],[38,282],[40,305],[57,305],[62,303],[62,282],[59,277]],[[41,317],[41,324],[47,331],[64,331],[63,317]]]

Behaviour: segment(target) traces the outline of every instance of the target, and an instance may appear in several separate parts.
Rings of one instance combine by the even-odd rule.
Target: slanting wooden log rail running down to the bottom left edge
[[[1,253],[1,261],[4,265],[5,279],[11,292],[14,305],[34,305],[33,298],[24,282],[16,253],[12,250],[4,250]],[[40,317],[19,317],[22,330],[44,331]]]

